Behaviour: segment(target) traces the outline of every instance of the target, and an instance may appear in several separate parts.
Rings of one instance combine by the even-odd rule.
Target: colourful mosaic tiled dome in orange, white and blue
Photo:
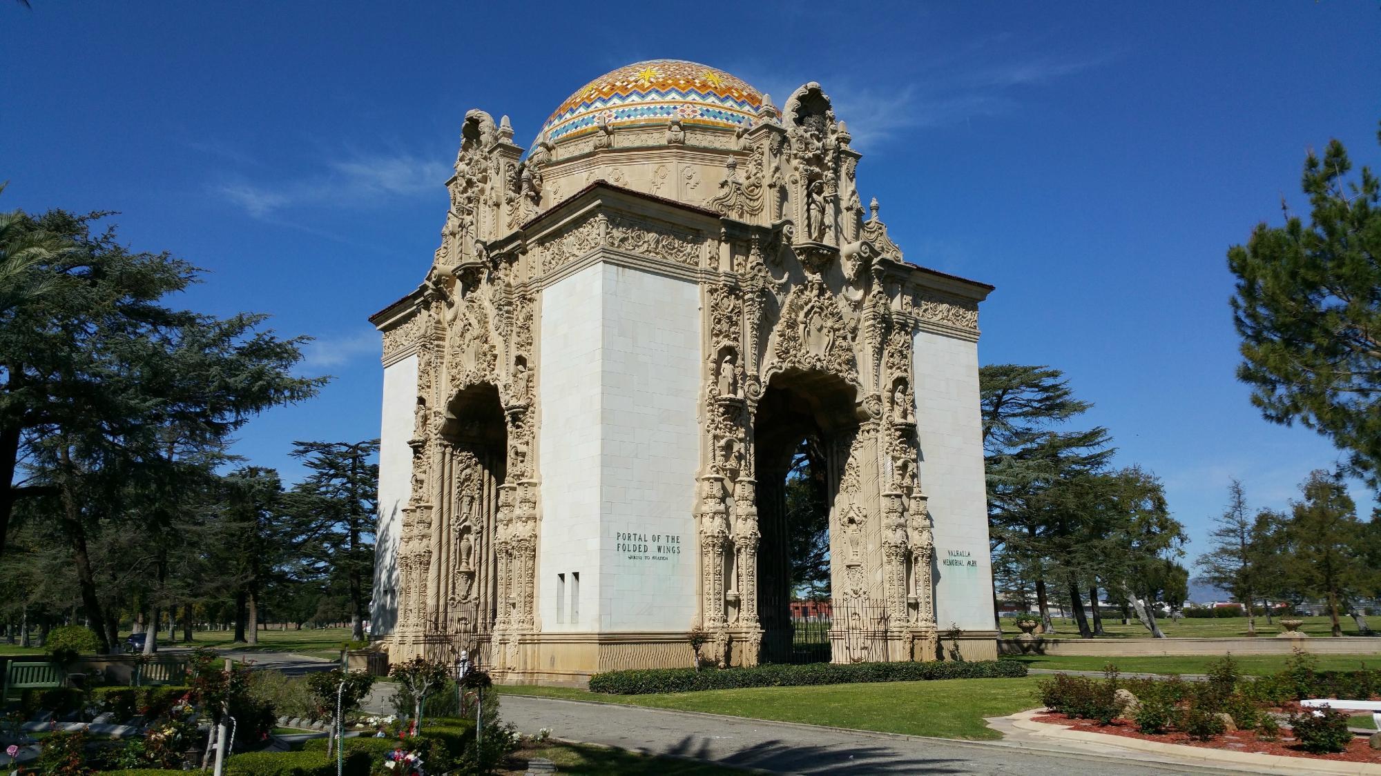
[[[724,70],[684,59],[648,59],[599,76],[566,98],[543,124],[552,142],[612,126],[666,124],[735,128],[751,124],[762,94]]]

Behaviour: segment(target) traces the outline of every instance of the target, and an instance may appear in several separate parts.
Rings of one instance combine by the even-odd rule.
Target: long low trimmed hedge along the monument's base
[[[798,688],[856,682],[918,682],[925,679],[996,679],[1026,675],[1015,660],[975,663],[811,663],[805,666],[754,666],[751,668],[649,668],[608,671],[590,678],[590,692],[646,695],[735,688]],[[425,729],[425,726],[424,726]]]

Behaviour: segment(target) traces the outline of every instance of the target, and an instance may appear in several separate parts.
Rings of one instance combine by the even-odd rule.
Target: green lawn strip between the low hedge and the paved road
[[[754,719],[778,719],[939,736],[946,739],[997,739],[983,725],[985,717],[1003,717],[1036,708],[1036,678],[936,679],[809,688],[747,688],[659,695],[603,695],[570,688],[503,686],[511,695],[536,695],[569,700],[597,700],[652,706],[681,711],[707,711]]]

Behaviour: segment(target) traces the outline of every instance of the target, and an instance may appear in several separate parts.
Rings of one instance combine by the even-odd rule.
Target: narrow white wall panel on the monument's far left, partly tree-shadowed
[[[378,432],[378,522],[374,539],[374,598],[370,635],[391,634],[398,624],[398,540],[403,508],[412,498],[413,411],[417,406],[417,356],[384,367],[383,427]]]

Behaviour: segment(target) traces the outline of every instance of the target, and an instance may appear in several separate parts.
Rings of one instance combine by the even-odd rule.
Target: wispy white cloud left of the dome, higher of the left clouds
[[[278,181],[228,177],[215,193],[255,218],[320,204],[369,207],[398,197],[441,191],[450,168],[441,159],[412,153],[355,155],[333,159],[311,174]]]

